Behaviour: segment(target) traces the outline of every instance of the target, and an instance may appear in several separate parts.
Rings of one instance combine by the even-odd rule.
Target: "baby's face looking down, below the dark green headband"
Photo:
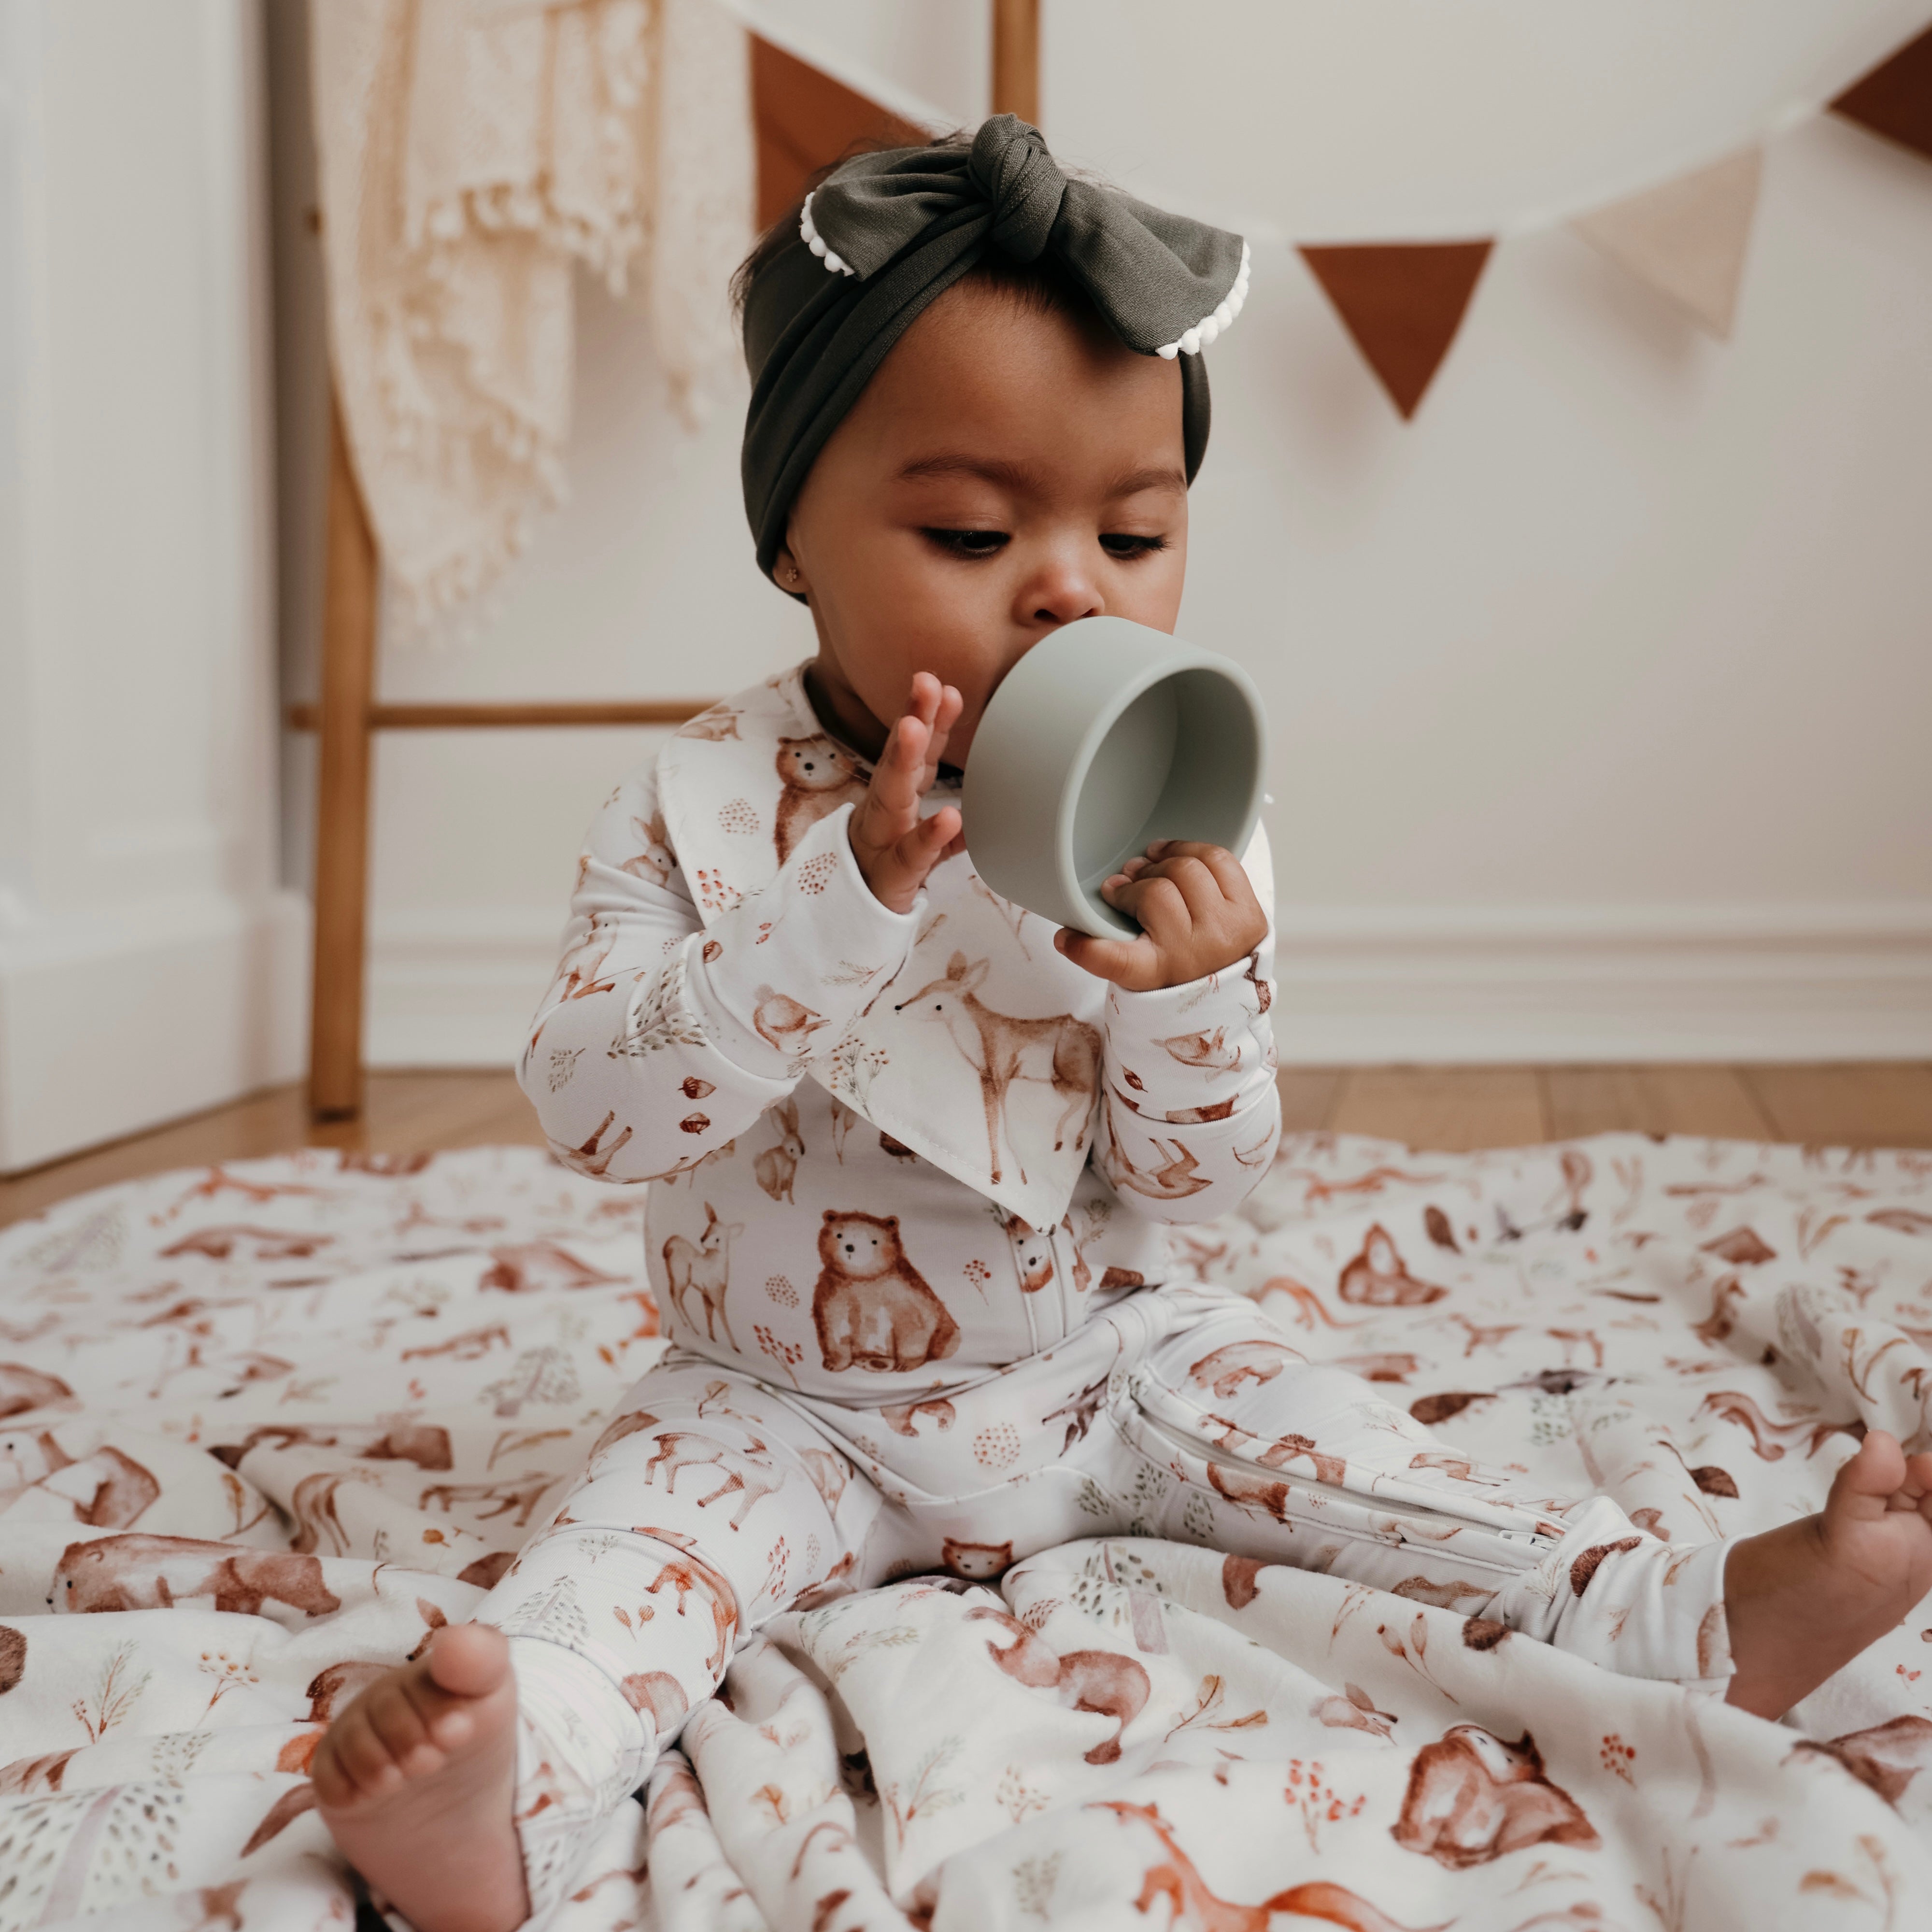
[[[945,752],[964,765],[995,686],[1049,630],[1101,612],[1175,628],[1186,537],[1179,367],[968,280],[825,444],[779,582],[808,595],[813,696],[860,752],[929,670],[964,697]]]

